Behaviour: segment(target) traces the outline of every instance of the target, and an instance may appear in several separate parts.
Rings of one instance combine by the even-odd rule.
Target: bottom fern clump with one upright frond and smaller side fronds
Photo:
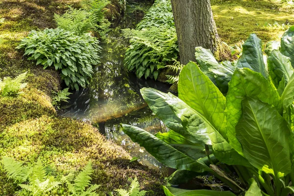
[[[90,184],[93,172],[92,162],[89,161],[75,178],[73,173],[70,173],[67,176],[63,176],[61,181],[66,182],[70,193],[72,193],[71,196],[98,196],[98,194],[95,193],[95,190],[97,190],[100,185]]]

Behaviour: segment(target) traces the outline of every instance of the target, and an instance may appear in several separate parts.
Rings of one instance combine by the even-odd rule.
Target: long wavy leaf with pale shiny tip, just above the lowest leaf
[[[158,113],[159,111],[164,113],[166,110],[169,110],[169,114],[173,112],[176,118],[181,120],[184,131],[176,132],[184,136],[187,141],[194,144],[204,143],[212,145],[213,153],[217,159],[228,165],[249,165],[245,158],[229,145],[211,123],[184,101],[170,93],[165,94],[151,88],[144,88],[141,90],[141,93],[143,98],[150,105],[152,111],[162,119],[164,123],[165,118],[174,118],[174,116],[162,116],[162,113]],[[163,105],[163,107],[156,107],[156,110],[153,110],[154,107],[152,104],[158,102],[162,102],[161,105]],[[165,108],[167,109],[164,110]]]

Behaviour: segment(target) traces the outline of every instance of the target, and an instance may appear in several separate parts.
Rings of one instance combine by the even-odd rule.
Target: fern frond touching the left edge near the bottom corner
[[[1,164],[4,171],[7,173],[8,178],[12,178],[19,183],[23,183],[27,179],[28,169],[23,167],[18,161],[13,160],[10,157],[2,157]]]

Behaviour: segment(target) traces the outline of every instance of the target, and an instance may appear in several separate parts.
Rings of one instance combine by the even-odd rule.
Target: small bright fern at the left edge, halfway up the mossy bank
[[[14,79],[11,77],[4,77],[3,81],[0,79],[0,96],[15,96],[22,93],[20,90],[27,85],[27,83],[23,82],[26,78],[26,73],[19,74]]]

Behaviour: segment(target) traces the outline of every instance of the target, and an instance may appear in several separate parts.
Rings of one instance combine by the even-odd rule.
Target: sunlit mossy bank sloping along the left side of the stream
[[[61,89],[59,73],[43,70],[15,49],[31,29],[54,27],[54,13],[61,14],[78,0],[1,0],[0,78],[28,71],[27,87],[18,97],[0,98],[0,156],[9,156],[25,165],[38,158],[48,172],[61,176],[79,171],[89,160],[95,170],[92,183],[100,184],[98,193],[108,195],[114,189],[128,188],[129,178],[137,176],[148,195],[162,195],[164,182],[158,171],[138,162],[107,141],[91,124],[59,117],[51,104],[52,92]],[[0,171],[0,195],[13,196],[20,189]],[[53,193],[68,195],[66,189]]]

